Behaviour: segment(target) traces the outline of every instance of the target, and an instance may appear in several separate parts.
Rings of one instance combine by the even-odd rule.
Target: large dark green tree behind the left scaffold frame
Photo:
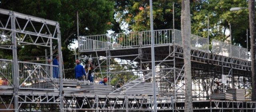
[[[79,35],[104,34],[112,28],[114,2],[108,0],[2,0],[0,8],[13,10],[60,23],[64,67],[74,68],[75,58],[70,46],[77,39],[76,12],[79,13]],[[44,56],[44,48],[20,48]],[[57,51],[54,50],[55,52]],[[56,52],[57,53],[57,52]],[[55,54],[56,54],[55,53]],[[70,54],[71,53],[71,54]],[[31,52],[26,52],[31,56]],[[70,59],[72,57],[72,59]],[[74,76],[72,74],[66,74]]]

